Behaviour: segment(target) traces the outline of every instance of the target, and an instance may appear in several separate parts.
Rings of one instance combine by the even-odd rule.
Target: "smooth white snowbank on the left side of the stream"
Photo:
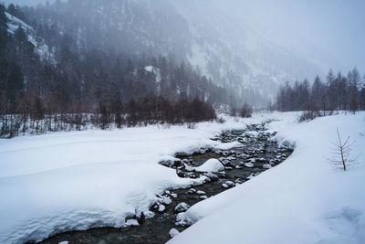
[[[125,218],[145,212],[166,188],[194,186],[158,164],[176,152],[235,143],[210,140],[248,120],[229,117],[224,124],[148,126],[113,131],[47,133],[0,140],[0,243],[46,239],[71,229],[122,227]]]

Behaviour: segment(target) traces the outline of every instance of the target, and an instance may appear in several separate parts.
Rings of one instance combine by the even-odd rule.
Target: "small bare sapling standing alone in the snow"
[[[344,171],[346,171],[350,164],[356,162],[356,158],[352,159],[349,157],[349,154],[352,151],[351,147],[356,142],[350,143],[348,137],[346,141],[343,143],[343,140],[339,135],[339,128],[337,128],[337,135],[338,135],[338,141],[336,143],[333,143],[335,147],[332,148],[333,157],[328,159],[328,162],[330,164],[333,164],[333,166],[342,168]]]

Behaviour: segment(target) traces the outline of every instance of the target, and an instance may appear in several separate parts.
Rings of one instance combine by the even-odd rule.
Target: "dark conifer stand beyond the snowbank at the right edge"
[[[365,76],[361,80],[360,72],[354,68],[347,76],[340,72],[335,75],[329,70],[325,82],[314,80],[310,86],[308,80],[288,83],[281,87],[276,100],[279,111],[353,111],[365,110]]]

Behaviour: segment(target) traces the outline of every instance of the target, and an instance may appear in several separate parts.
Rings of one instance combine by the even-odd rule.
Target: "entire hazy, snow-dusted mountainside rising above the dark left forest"
[[[325,70],[222,11],[212,0],[78,0],[56,5],[79,43],[188,61],[243,101],[266,104],[280,84]],[[75,23],[83,23],[76,28]],[[265,99],[264,99],[265,98]]]

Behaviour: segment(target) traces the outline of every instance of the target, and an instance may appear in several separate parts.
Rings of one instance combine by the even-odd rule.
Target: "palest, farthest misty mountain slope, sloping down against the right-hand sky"
[[[189,25],[190,62],[238,92],[252,89],[272,95],[287,80],[302,80],[323,71],[297,52],[228,16],[210,0],[174,1],[174,6]]]

